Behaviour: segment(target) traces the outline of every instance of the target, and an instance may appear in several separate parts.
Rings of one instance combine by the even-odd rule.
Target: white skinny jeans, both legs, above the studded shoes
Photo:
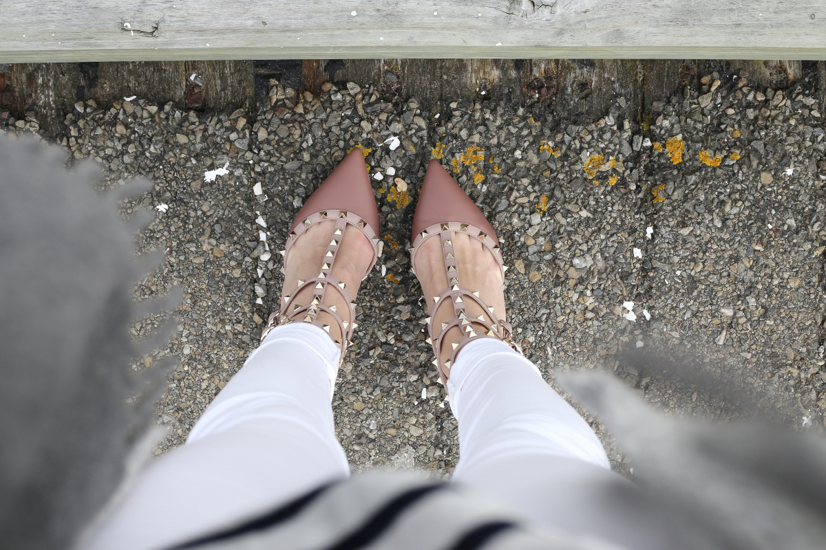
[[[140,472],[83,548],[160,550],[349,477],[330,407],[338,359],[318,327],[274,329],[187,444]],[[589,498],[589,487],[616,477],[605,451],[534,364],[501,341],[473,341],[448,388],[461,447],[454,482],[546,524],[615,533],[610,519],[595,522],[601,503]]]

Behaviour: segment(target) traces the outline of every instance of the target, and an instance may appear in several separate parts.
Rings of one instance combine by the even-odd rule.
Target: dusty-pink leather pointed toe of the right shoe
[[[481,229],[496,242],[496,232],[476,203],[458,186],[453,176],[437,160],[430,161],[425,172],[413,215],[411,242],[425,228],[435,223],[461,222]]]

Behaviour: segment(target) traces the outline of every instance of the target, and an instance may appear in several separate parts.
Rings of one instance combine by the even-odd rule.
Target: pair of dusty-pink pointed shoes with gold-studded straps
[[[334,221],[335,225],[333,225]],[[366,242],[373,247],[373,259],[369,261],[366,270],[358,272],[360,280],[364,280],[375,266],[382,245],[377,237],[378,211],[373,186],[370,183],[363,154],[358,148],[354,148],[344,157],[339,166],[301,207],[296,219],[293,220],[287,236],[287,247],[281,251],[284,256],[285,271],[292,273],[292,269],[287,267],[287,262],[289,252],[299,237],[311,233],[314,231],[313,226],[324,222],[327,223],[326,231],[331,231],[332,237],[325,250],[316,247],[316,252],[320,257],[318,275],[298,279],[297,286],[293,287],[289,294],[285,288],[282,293],[282,306],[278,312],[269,316],[261,340],[263,341],[264,336],[267,336],[269,331],[278,325],[290,322],[309,322],[330,332],[333,341],[342,351],[340,360],[344,360],[344,353],[350,346],[353,331],[358,327],[355,322],[353,300],[358,284],[350,283],[348,287],[342,280],[344,276],[342,273],[349,273],[353,280],[354,273],[358,272],[359,266],[363,270],[368,264],[368,256],[362,254],[360,261],[353,261],[350,257],[347,265],[334,274],[336,254],[343,246],[345,233],[348,239],[351,238],[349,235],[353,235],[352,240],[348,241],[348,246],[361,246],[362,251],[366,250],[363,242],[356,241],[363,241],[366,238]],[[464,346],[468,345],[468,342],[478,338],[493,337],[505,341],[520,353],[521,348],[519,344],[511,340],[512,327],[505,320],[504,308],[501,312],[496,312],[494,307],[488,306],[480,297],[478,289],[468,289],[461,281],[460,271],[466,267],[458,265],[453,243],[457,238],[470,238],[481,243],[484,250],[492,255],[492,259],[500,270],[501,280],[504,280],[506,267],[502,262],[496,233],[482,211],[453,181],[439,162],[431,161],[425,173],[413,218],[412,247],[409,251],[414,273],[416,273],[417,254],[421,255],[420,251],[422,247],[425,247],[425,242],[436,236],[439,236],[439,256],[444,266],[447,284],[438,296],[425,297],[430,313],[427,319],[429,334],[427,341],[433,347],[436,357],[434,364],[439,369],[440,382],[444,384],[450,376],[450,367],[455,363],[456,356]],[[317,241],[318,236],[313,238]],[[354,248],[349,250],[352,251]],[[285,285],[288,276],[285,273]],[[416,274],[416,276],[419,275]],[[451,303],[450,308],[444,306],[444,303],[448,302]],[[473,310],[473,316],[468,313],[468,307]],[[449,313],[447,317],[445,313]],[[440,319],[438,330],[434,330],[435,317]],[[447,359],[443,359],[443,349],[447,344],[451,346],[450,354]]]

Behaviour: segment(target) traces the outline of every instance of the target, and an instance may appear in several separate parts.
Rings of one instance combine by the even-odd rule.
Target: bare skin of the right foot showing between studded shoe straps
[[[459,275],[459,284],[471,291],[479,291],[479,298],[488,306],[493,307],[493,316],[496,322],[505,317],[505,291],[502,289],[502,277],[499,266],[493,258],[491,251],[479,242],[477,238],[470,237],[465,233],[452,233],[453,254],[456,256],[456,265]],[[415,272],[421,284],[422,293],[427,300],[428,311],[432,317],[432,327],[434,335],[439,334],[441,323],[449,322],[453,319],[453,307],[441,303],[434,303],[433,297],[439,296],[444,289],[449,288],[448,275],[444,271],[444,261],[442,261],[442,244],[439,237],[430,237],[419,247],[415,255]],[[470,317],[478,317],[486,313],[484,319],[490,322],[490,313],[483,311],[476,302],[465,301],[465,314]],[[435,315],[434,315],[435,312]],[[481,328],[482,325],[476,325]],[[447,361],[453,351],[451,342],[457,342],[462,337],[462,331],[458,327],[452,327],[442,339],[442,348],[439,350],[439,359]]]

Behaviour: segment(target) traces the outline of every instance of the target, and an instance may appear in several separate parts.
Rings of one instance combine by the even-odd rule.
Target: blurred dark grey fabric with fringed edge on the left
[[[130,286],[152,266],[133,258],[116,194],[93,190],[95,163],[66,160],[0,135],[3,548],[69,547],[120,482],[171,366],[132,374]]]

